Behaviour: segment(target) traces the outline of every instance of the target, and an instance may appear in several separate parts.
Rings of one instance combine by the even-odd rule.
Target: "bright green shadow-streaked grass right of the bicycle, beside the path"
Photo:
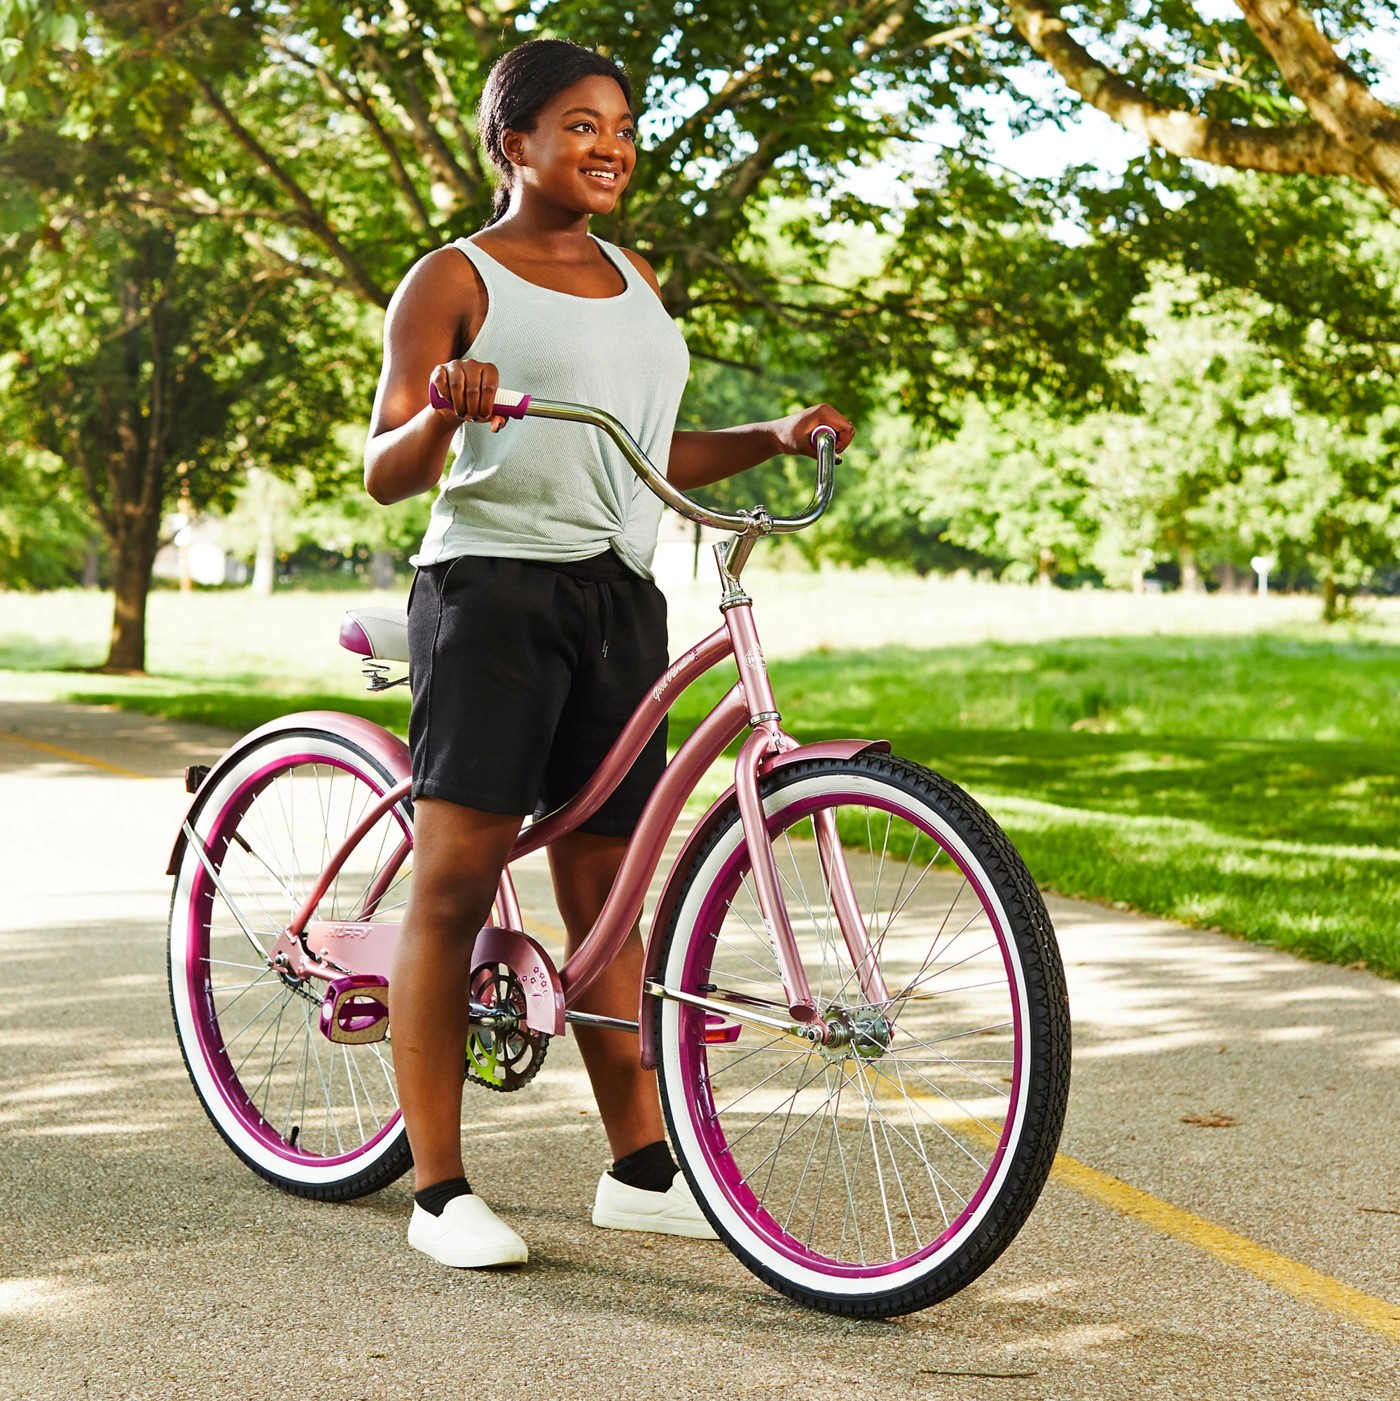
[[[877,734],[946,773],[1044,887],[1400,976],[1394,644],[1071,639],[774,672],[803,738]]]

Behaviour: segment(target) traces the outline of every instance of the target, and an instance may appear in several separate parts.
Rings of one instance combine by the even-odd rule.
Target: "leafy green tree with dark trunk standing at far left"
[[[227,502],[249,464],[324,471],[369,357],[348,350],[352,304],[160,198],[191,130],[160,71],[55,34],[0,132],[0,331],[17,347],[0,454],[11,472],[48,454],[80,483],[112,573],[107,665],[143,670],[167,507]]]

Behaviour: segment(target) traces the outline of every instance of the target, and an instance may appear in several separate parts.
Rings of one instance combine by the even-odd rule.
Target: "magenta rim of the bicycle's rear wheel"
[[[385,785],[377,778],[377,775],[367,772],[364,768],[350,764],[348,759],[341,757],[331,757],[325,754],[290,754],[272,759],[245,778],[238,787],[234,789],[233,794],[228,797],[227,803],[224,803],[219,815],[210,825],[210,835],[205,845],[210,860],[214,862],[216,866],[223,864],[224,855],[227,853],[230,824],[237,822],[244,815],[249,803],[258,796],[266,785],[266,780],[273,773],[300,764],[315,764],[322,768],[335,768],[345,773],[353,773],[356,778],[369,783],[369,786],[374,789],[380,797],[383,797],[387,792]],[[398,1111],[388,1118],[377,1133],[363,1140],[357,1147],[348,1153],[308,1153],[303,1149],[290,1147],[282,1138],[280,1132],[277,1132],[277,1129],[258,1112],[256,1107],[244,1093],[242,1083],[238,1080],[238,1076],[234,1073],[234,1068],[228,1061],[228,1052],[224,1048],[224,1042],[220,1037],[216,1037],[219,1013],[214,1009],[214,989],[209,976],[200,967],[209,957],[209,922],[205,916],[213,906],[216,895],[217,891],[214,890],[213,881],[209,878],[209,871],[205,870],[202,862],[198,863],[195,877],[191,883],[189,895],[189,933],[185,939],[185,978],[189,988],[189,1007],[193,1014],[195,1035],[199,1041],[199,1054],[214,1080],[220,1098],[228,1107],[230,1112],[238,1119],[247,1133],[256,1138],[265,1149],[286,1163],[298,1166],[314,1164],[315,1167],[338,1167],[346,1163],[355,1163],[367,1154],[371,1154],[373,1150],[398,1128],[401,1118]]]

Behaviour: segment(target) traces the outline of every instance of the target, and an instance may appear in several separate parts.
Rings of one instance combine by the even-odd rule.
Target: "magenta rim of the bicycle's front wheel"
[[[768,829],[774,832],[782,827],[790,827],[793,821],[800,820],[817,808],[824,807],[839,807],[842,804],[859,804],[862,807],[879,807],[883,811],[903,817],[911,825],[917,827],[929,841],[932,841],[939,850],[942,850],[947,857],[957,866],[963,873],[968,885],[977,895],[982,911],[987,913],[988,922],[992,926],[992,932],[996,937],[996,944],[1001,950],[1002,969],[1008,979],[1008,986],[1016,989],[1019,986],[1013,957],[1010,951],[1010,940],[1008,937],[1003,920],[998,913],[998,908],[988,899],[987,890],[981,880],[978,880],[977,873],[968,866],[963,855],[952,845],[939,839],[936,832],[928,828],[922,822],[917,822],[908,810],[900,807],[895,803],[881,801],[879,797],[870,793],[831,793],[824,792],[818,796],[800,799],[790,806],[783,806],[778,808],[768,818]],[[719,916],[719,906],[725,904],[725,895],[720,892],[732,891],[733,877],[740,866],[747,866],[748,849],[743,839],[739,841],[734,850],[725,860],[720,870],[716,873],[715,878],[711,881],[709,891],[705,898],[705,904],[699,909],[699,918],[696,920],[696,927],[701,929],[718,929],[722,923]],[[699,969],[696,964],[701,957],[708,960],[711,955],[711,948],[713,947],[715,939],[709,936],[706,939],[698,939],[691,943],[687,950],[685,964],[681,971],[681,986],[685,989],[694,989],[702,979],[699,978]],[[946,1248],[949,1241],[956,1240],[968,1220],[974,1219],[987,1198],[988,1191],[991,1191],[992,1184],[999,1175],[1002,1160],[1006,1156],[1008,1143],[1012,1135],[1013,1125],[1016,1124],[1017,1111],[1022,1100],[1022,1084],[1023,1084],[1023,1066],[1024,1066],[1024,1048],[1023,1048],[1023,1033],[1022,1033],[1022,1005],[1015,996],[1012,998],[1012,1087],[1006,1104],[1006,1118],[1002,1125],[1002,1133],[996,1143],[996,1149],[992,1153],[985,1170],[982,1171],[982,1180],[977,1191],[968,1199],[967,1205],[957,1213],[957,1216],[949,1222],[949,1224],[939,1233],[935,1240],[931,1240],[922,1250],[914,1251],[898,1259],[893,1259],[879,1265],[866,1264],[851,1264],[849,1261],[835,1259],[830,1255],[824,1255],[820,1251],[810,1250],[802,1245],[799,1241],[793,1240],[776,1219],[758,1202],[753,1189],[743,1180],[739,1166],[734,1163],[733,1156],[727,1152],[726,1146],[720,1139],[723,1138],[723,1131],[713,1119],[709,1119],[705,1110],[706,1105],[702,1103],[701,1097],[708,1097],[708,1065],[705,1062],[705,1048],[696,1035],[699,1019],[704,1013],[691,1006],[677,1007],[677,1021],[678,1021],[678,1042],[680,1042],[680,1061],[681,1061],[681,1077],[685,1086],[685,1105],[687,1112],[691,1118],[691,1125],[694,1128],[695,1136],[699,1140],[701,1152],[705,1156],[705,1161],[709,1167],[711,1175],[720,1185],[725,1196],[729,1199],[730,1206],[754,1229],[757,1230],[765,1244],[792,1259],[800,1265],[806,1265],[810,1269],[817,1269],[832,1278],[844,1279],[876,1279],[884,1275],[893,1275],[910,1269],[918,1265],[921,1261],[929,1259],[936,1255],[940,1250]]]

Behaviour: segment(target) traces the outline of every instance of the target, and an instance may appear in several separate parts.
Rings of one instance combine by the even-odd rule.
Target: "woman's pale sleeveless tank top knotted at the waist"
[[[502,388],[605,409],[664,472],[689,352],[624,254],[594,242],[626,279],[615,297],[538,287],[458,238],[453,247],[481,273],[488,298],[469,354],[497,367]],[[598,429],[527,417],[492,433],[464,423],[413,563],[458,555],[568,562],[612,549],[650,579],[661,510]]]

